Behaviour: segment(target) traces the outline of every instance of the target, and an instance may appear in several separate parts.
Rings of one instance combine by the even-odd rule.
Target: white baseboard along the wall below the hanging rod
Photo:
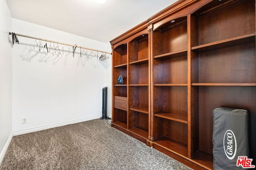
[[[76,119],[76,120],[72,120],[72,121],[64,121],[64,122],[54,123],[54,124],[50,124],[50,125],[32,127],[32,128],[28,128],[28,129],[22,129],[22,130],[18,130],[18,131],[13,131],[13,136],[22,135],[22,134],[30,133],[30,132],[42,131],[42,130],[50,129],[50,128],[53,128],[53,127],[70,125],[70,124],[74,124],[74,123],[80,123],[80,122],[83,122],[83,121],[98,119],[100,117],[101,117],[101,115],[97,115],[97,116],[86,117],[86,118],[82,118],[82,119]]]

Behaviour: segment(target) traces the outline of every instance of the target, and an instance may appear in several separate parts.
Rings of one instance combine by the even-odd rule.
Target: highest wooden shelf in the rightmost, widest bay
[[[198,45],[195,47],[192,47],[191,49],[194,51],[197,51],[199,53],[206,52],[206,51],[213,51],[218,49],[224,49],[228,47],[233,47],[237,45],[243,45],[248,43],[254,43],[255,42],[255,32],[241,35],[234,38],[224,39],[221,41],[216,41],[212,43],[207,43],[203,45]]]

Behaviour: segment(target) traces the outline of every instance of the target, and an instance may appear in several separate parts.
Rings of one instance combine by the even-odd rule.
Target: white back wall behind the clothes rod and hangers
[[[72,21],[68,24],[72,24]],[[12,19],[12,31],[111,52],[109,43],[17,19]],[[105,61],[98,61],[97,57],[86,59],[85,56],[80,59],[80,49],[77,48],[73,58],[72,53],[68,55],[68,49],[72,51],[72,47],[68,46],[64,46],[64,55],[56,55],[53,50],[47,53],[45,48],[39,51],[36,46],[34,49],[34,39],[18,39],[20,44],[14,44],[12,48],[14,133],[101,116],[102,88],[108,86],[111,95],[111,56]],[[42,45],[45,43],[42,41]],[[49,47],[50,43],[47,42],[47,45]],[[63,45],[58,46],[62,51]],[[108,111],[111,114],[111,100],[108,101]],[[26,124],[22,124],[24,117],[28,121]]]

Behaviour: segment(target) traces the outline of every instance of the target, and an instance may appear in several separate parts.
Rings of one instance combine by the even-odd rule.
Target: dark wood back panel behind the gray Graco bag
[[[255,120],[256,87],[200,86],[198,93],[199,150],[212,153],[213,109],[218,107],[248,109],[254,117],[250,120],[250,123]],[[252,127],[252,129],[255,129],[255,127]],[[255,135],[254,131],[252,133]]]

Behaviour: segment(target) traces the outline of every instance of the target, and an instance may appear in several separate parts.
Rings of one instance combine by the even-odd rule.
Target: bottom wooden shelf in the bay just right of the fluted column
[[[158,145],[184,157],[188,156],[188,147],[164,136],[154,140],[154,145]]]

